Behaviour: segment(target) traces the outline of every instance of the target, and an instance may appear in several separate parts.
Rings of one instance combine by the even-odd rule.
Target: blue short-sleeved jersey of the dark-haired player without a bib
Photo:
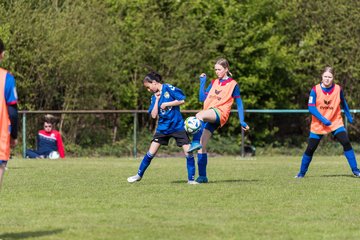
[[[161,109],[160,106],[165,102],[172,102],[175,100],[181,101],[185,100],[185,94],[181,89],[176,88],[170,84],[163,84],[161,90],[161,96],[159,99],[159,121],[158,127],[156,129],[157,133],[162,134],[171,134],[184,130],[184,120],[180,113],[180,106],[168,107],[165,110]],[[154,108],[156,97],[153,95],[151,97],[151,104],[149,107],[149,113]]]

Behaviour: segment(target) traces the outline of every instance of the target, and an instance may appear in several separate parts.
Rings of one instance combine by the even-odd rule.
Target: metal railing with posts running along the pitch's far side
[[[185,114],[195,114],[199,110],[182,110],[182,113]],[[237,110],[232,110],[232,112],[237,112]],[[360,109],[351,110],[351,113],[359,113]],[[58,110],[41,110],[41,111],[19,111],[19,114],[22,115],[22,153],[25,157],[25,152],[27,148],[27,117],[32,114],[132,114],[133,115],[133,149],[132,154],[137,157],[137,132],[138,132],[138,116],[139,114],[147,113],[147,110],[73,110],[73,111],[58,111]],[[256,114],[309,114],[307,109],[246,109],[246,113],[256,113]],[[345,116],[345,128],[347,128],[347,119]],[[241,156],[245,156],[244,151],[244,131],[241,130]]]

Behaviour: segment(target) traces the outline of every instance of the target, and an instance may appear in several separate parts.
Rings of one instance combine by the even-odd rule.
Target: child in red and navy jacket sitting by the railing
[[[44,129],[37,135],[37,150],[26,150],[27,158],[47,158],[56,151],[61,158],[65,157],[65,150],[60,132],[54,129],[55,117],[47,114],[44,118]]]

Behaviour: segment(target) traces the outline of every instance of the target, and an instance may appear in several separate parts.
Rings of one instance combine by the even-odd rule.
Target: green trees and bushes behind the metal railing
[[[328,64],[356,108],[359,9],[356,0],[0,0],[3,66],[17,79],[22,110],[147,109],[142,79],[150,70],[184,90],[183,109],[201,109],[198,75],[213,77],[218,57],[229,60],[247,109],[306,108]],[[83,147],[119,144],[132,131],[132,116],[60,120],[65,141]],[[246,141],[257,146],[301,145],[309,125],[270,115],[246,120]],[[139,122],[154,128],[145,115]],[[114,126],[121,126],[115,137]],[[359,124],[349,130],[357,135]],[[238,119],[220,133],[240,141]]]

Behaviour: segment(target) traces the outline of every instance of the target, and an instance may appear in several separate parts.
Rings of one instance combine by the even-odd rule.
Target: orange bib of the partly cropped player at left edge
[[[0,68],[0,160],[10,158],[10,119],[5,100],[5,80],[7,71]]]

